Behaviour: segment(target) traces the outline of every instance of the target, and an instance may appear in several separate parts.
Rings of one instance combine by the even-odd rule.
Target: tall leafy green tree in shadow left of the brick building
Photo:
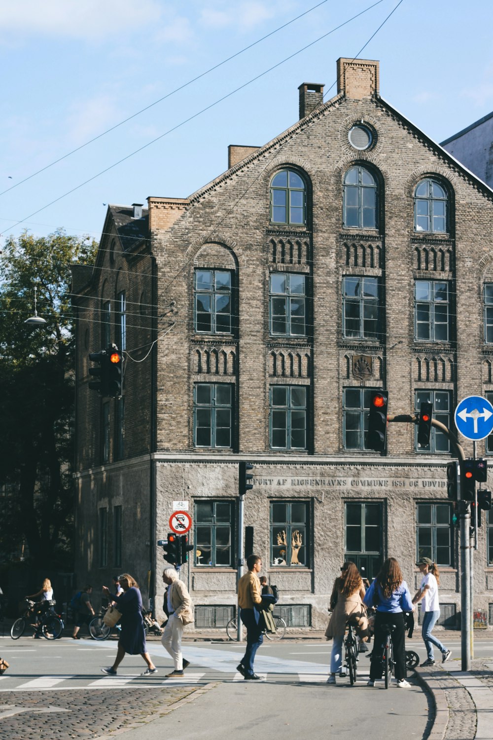
[[[75,340],[70,264],[97,244],[62,229],[24,232],[0,255],[0,559],[27,544],[36,565],[67,566],[72,550]],[[30,326],[34,286],[38,314]]]

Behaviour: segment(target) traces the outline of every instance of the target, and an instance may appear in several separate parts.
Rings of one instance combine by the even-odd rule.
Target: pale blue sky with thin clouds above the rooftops
[[[319,1],[319,0],[318,0]],[[152,146],[77,188],[375,0],[327,0],[278,33],[18,184],[304,13],[317,0],[17,0],[0,7],[0,244],[28,229],[99,238],[103,203],[185,198],[227,169],[228,144],[262,145],[298,119],[302,82],[336,81],[398,0],[330,34]],[[380,92],[435,141],[493,110],[491,0],[404,0],[361,53]],[[330,98],[333,92],[327,95]],[[30,217],[33,212],[42,209]],[[30,217],[30,218],[27,218]],[[25,220],[24,220],[25,219]],[[23,223],[14,226],[16,221]]]

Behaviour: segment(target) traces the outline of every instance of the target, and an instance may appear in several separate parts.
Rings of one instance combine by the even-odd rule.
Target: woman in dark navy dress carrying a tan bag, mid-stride
[[[139,585],[128,573],[123,573],[123,576],[119,576],[118,579],[121,588],[123,588],[123,593],[120,596],[117,596],[116,593],[110,593],[109,588],[103,586],[104,596],[112,599],[116,603],[118,611],[121,612],[121,633],[115,662],[111,667],[101,668],[101,670],[108,676],[116,676],[117,668],[125,653],[129,653],[129,655],[141,655],[143,657],[147,663],[147,668],[140,675],[151,676],[152,673],[157,673],[157,667],[147,652],[146,633],[142,619],[142,596],[140,596]]]

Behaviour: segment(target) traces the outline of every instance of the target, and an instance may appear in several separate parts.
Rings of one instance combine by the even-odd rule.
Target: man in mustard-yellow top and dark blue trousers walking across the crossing
[[[262,569],[262,558],[259,555],[249,555],[247,567],[248,573],[245,573],[238,582],[239,616],[247,630],[247,647],[237,670],[245,678],[245,681],[259,681],[261,677],[254,673],[254,659],[257,649],[264,640],[262,626],[259,623],[262,589],[260,588],[258,574]]]

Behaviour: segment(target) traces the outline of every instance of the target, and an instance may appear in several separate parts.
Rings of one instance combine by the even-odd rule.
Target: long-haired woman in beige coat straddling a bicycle
[[[336,683],[336,673],[339,673],[342,666],[342,642],[346,631],[347,622],[352,621],[360,628],[360,636],[367,639],[364,635],[364,628],[367,628],[366,613],[361,599],[364,597],[364,585],[359,574],[358,568],[353,562],[344,562],[341,566],[341,575],[334,581],[332,593],[330,595],[330,616],[329,625],[325,632],[327,640],[333,639],[332,653],[330,653],[330,676],[327,684]]]

